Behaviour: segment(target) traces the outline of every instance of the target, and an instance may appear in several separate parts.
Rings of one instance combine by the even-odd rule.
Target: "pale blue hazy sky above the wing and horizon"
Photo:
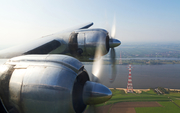
[[[93,22],[128,42],[180,42],[180,0],[0,0],[0,46]]]

